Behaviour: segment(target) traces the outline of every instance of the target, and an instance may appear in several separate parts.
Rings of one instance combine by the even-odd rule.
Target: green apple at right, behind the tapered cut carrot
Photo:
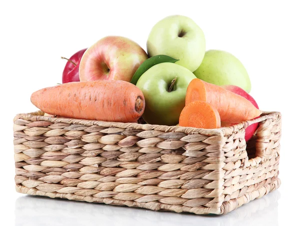
[[[193,73],[198,79],[218,86],[235,85],[248,93],[251,90],[246,69],[236,57],[225,51],[207,51],[201,65]]]

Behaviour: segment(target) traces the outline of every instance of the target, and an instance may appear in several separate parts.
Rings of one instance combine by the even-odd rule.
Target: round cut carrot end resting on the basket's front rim
[[[220,128],[221,119],[216,108],[211,104],[204,101],[193,101],[181,111],[179,126],[215,129]]]

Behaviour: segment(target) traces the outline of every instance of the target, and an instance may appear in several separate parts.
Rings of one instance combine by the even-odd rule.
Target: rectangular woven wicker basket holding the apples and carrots
[[[247,143],[245,128],[258,122]],[[16,191],[152,210],[224,214],[280,185],[281,116],[196,129],[14,118]]]

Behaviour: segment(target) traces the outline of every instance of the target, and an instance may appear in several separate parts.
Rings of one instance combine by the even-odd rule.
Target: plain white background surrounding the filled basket
[[[299,65],[297,1],[1,1],[1,225],[284,225],[296,219],[299,188]],[[206,49],[225,50],[245,66],[250,94],[264,111],[280,111],[281,187],[224,216],[153,212],[60,199],[14,190],[12,119],[35,111],[33,91],[61,82],[60,56],[108,35],[145,49],[152,26],[169,15],[192,18]],[[297,222],[297,221],[296,221]],[[293,225],[297,224],[294,223]]]

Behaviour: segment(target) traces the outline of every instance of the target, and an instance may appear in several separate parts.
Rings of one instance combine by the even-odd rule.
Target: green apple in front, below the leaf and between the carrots
[[[145,98],[142,118],[148,124],[176,125],[184,108],[187,86],[194,78],[192,72],[174,63],[148,69],[136,83]]]

